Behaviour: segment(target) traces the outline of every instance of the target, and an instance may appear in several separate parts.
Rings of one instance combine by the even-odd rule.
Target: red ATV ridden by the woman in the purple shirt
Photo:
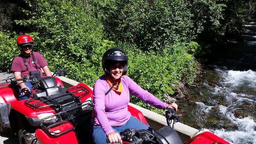
[[[148,124],[143,114],[128,105],[128,110],[131,114],[142,121],[144,124]],[[51,118],[51,117],[47,117]],[[80,115],[80,117],[73,117],[72,121],[66,123],[56,123],[49,125],[48,127],[42,127],[36,130],[35,136],[38,138],[41,144],[94,144],[90,137],[90,118],[91,110]],[[166,121],[168,126],[161,128],[160,130],[140,130],[140,129],[127,129],[120,133],[123,144],[183,144],[180,136],[170,126],[171,123],[180,121],[180,114],[175,114],[173,109],[166,110]],[[173,121],[173,122],[172,122]],[[67,132],[70,130],[70,132]],[[64,133],[67,132],[67,133]],[[106,139],[108,142],[108,139]],[[211,132],[203,132],[195,137],[189,139],[185,144],[229,144],[222,138],[214,135]]]

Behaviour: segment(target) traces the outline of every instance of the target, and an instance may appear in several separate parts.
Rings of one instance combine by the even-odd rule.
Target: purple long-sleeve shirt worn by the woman
[[[111,88],[105,75],[94,84],[92,122],[94,125],[101,125],[106,135],[113,130],[111,126],[122,126],[131,117],[127,107],[130,101],[130,93],[158,109],[165,109],[168,106],[168,104],[141,88],[128,76],[123,75],[121,82],[122,93],[120,95],[113,90],[105,95]]]

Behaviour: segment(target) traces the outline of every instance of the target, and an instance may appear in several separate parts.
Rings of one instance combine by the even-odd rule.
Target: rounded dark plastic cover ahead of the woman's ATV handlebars
[[[158,144],[184,144],[177,132],[169,126],[162,127],[154,132]]]

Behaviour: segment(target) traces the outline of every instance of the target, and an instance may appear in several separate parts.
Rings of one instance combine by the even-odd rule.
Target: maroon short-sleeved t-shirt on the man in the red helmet
[[[42,77],[43,74],[42,74],[42,71],[40,68],[47,66],[47,62],[44,59],[44,56],[41,55],[40,53],[33,52],[33,55],[35,57],[35,61],[36,61],[36,65],[37,65],[38,69],[36,69],[32,55],[30,55],[29,58],[25,58],[26,62],[27,62],[27,67],[24,64],[23,57],[21,57],[21,55],[19,55],[19,56],[16,56],[14,58],[14,60],[12,61],[11,71],[12,72],[21,72],[21,78],[23,78],[24,76],[28,76],[29,72],[31,72],[31,71],[39,70],[41,77]]]

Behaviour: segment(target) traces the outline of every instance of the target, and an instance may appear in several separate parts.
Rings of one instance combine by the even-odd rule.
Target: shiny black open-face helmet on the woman
[[[109,65],[113,62],[122,62],[124,64],[124,69],[122,75],[125,75],[128,69],[128,58],[125,55],[125,52],[121,49],[109,49],[107,50],[102,57],[102,67],[106,75],[110,75]]]

